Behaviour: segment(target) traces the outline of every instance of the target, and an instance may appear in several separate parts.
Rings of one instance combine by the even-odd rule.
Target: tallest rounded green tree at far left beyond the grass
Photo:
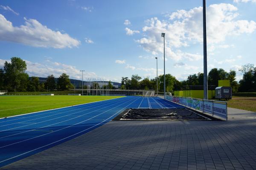
[[[4,63],[4,84],[9,91],[26,91],[29,75],[25,73],[26,62],[19,57],[12,57]]]

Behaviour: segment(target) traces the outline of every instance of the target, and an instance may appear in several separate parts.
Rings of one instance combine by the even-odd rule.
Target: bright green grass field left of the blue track
[[[122,96],[0,96],[0,118]]]

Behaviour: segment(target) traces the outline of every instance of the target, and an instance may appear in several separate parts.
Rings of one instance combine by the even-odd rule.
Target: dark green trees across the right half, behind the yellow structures
[[[208,73],[208,85],[218,87],[218,80],[230,80],[230,86],[233,93],[236,92],[256,92],[256,67],[253,64],[243,65],[239,69],[243,73],[243,78],[236,81],[236,71],[225,71],[222,68],[212,68]],[[158,91],[163,92],[164,85],[163,75],[158,76]],[[131,79],[122,77],[121,89],[144,89],[157,90],[157,77],[142,79],[139,75],[132,75]],[[204,74],[192,74],[186,80],[179,81],[171,74],[166,74],[166,91],[173,92],[176,90],[184,90],[188,85],[204,85]]]

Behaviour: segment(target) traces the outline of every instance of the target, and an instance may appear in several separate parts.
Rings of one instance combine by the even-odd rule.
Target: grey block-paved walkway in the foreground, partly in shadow
[[[112,121],[2,169],[256,169],[256,113],[228,113],[227,122]]]

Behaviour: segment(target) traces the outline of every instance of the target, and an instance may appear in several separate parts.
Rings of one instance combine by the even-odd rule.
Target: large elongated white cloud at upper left
[[[0,14],[0,40],[18,42],[34,47],[72,48],[80,45],[80,42],[68,34],[60,31],[52,31],[37,20],[25,20],[25,25],[12,26],[12,23]]]

